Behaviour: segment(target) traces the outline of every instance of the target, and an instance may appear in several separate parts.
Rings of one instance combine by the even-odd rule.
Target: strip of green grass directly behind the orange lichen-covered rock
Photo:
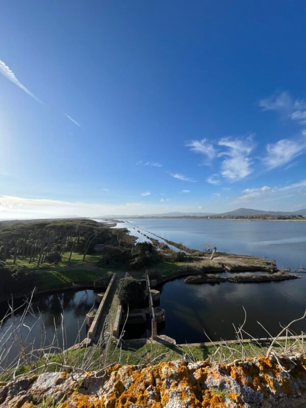
[[[294,344],[294,340],[290,339],[287,342],[287,347]],[[283,346],[285,345],[285,340],[279,341]],[[157,364],[159,362],[167,362],[173,360],[182,360],[184,354],[187,353],[189,362],[193,361],[203,361],[209,358],[210,355],[215,353],[214,361],[226,360],[226,363],[233,363],[234,360],[243,359],[242,347],[240,344],[229,344],[231,350],[225,346],[212,346],[212,345],[174,345],[174,344],[161,344],[161,343],[146,343],[136,342],[136,341],[125,341],[120,347],[116,347],[113,342],[109,343],[107,356],[102,358],[105,352],[104,347],[98,347],[95,350],[93,347],[89,346],[87,350],[85,348],[71,349],[65,352],[65,365],[70,365],[71,367],[79,367],[83,361],[85,352],[87,355],[91,355],[90,359],[90,371],[100,370],[103,366],[108,366],[113,363],[119,363],[122,365],[143,365],[143,364]],[[217,348],[219,351],[216,352]],[[244,344],[245,355],[244,358],[256,358],[257,356],[264,356],[267,354],[268,347],[260,347],[254,344],[245,343]],[[273,346],[275,353],[281,353],[282,348]],[[302,352],[296,347],[295,352]],[[54,354],[50,358],[49,362],[63,363],[63,354]],[[35,367],[41,367],[41,370],[37,370],[36,374],[41,374],[45,371],[44,360],[39,360],[36,362]],[[18,367],[16,375],[26,374],[34,367],[28,365],[21,365]],[[59,366],[49,366],[48,371],[62,371]],[[12,370],[10,372],[5,372],[0,375],[0,381],[7,381]]]

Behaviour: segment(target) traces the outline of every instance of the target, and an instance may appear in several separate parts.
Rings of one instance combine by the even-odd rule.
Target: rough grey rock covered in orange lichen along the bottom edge
[[[48,372],[0,384],[1,408],[31,408],[48,398],[62,408],[302,408],[306,358],[116,364],[99,373]]]

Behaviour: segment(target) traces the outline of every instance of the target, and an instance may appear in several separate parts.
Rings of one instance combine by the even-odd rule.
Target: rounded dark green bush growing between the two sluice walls
[[[121,279],[118,286],[118,298],[122,305],[129,308],[139,308],[144,302],[144,289],[140,281],[132,276]]]

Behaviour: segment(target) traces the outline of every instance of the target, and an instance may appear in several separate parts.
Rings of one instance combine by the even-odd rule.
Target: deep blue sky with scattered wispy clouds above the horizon
[[[4,0],[0,218],[306,208],[305,17]]]

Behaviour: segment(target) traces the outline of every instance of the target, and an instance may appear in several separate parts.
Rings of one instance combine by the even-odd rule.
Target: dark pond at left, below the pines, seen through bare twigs
[[[13,318],[8,317],[0,327],[1,352],[5,348],[8,350],[11,347],[12,331],[20,341],[20,346],[11,349],[3,365],[8,366],[13,361],[19,354],[21,346],[29,349],[34,344],[36,348],[39,348],[41,341],[45,341],[45,345],[52,344],[55,333],[57,333],[60,347],[63,346],[63,338],[65,348],[72,346],[75,342],[82,341],[86,337],[86,325],[84,324],[86,314],[93,307],[94,302],[95,292],[93,290],[65,291],[35,296],[32,303],[32,313],[23,319],[24,307],[21,307]],[[22,303],[21,300],[15,300],[14,308],[18,308]],[[1,303],[0,319],[5,316],[7,310],[8,304]],[[62,313],[64,316],[64,337]],[[19,330],[17,327],[21,320],[23,325]],[[33,327],[31,332],[29,327]]]

